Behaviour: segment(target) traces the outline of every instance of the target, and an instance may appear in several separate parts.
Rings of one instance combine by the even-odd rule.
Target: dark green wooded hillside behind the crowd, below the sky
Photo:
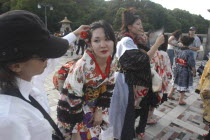
[[[81,24],[104,19],[120,30],[121,13],[129,7],[135,7],[140,15],[144,30],[165,28],[165,32],[181,29],[188,32],[190,26],[197,27],[197,33],[207,33],[209,21],[200,15],[190,14],[188,11],[168,10],[160,4],[149,0],[0,0],[0,14],[9,10],[28,10],[37,14],[44,21],[44,7],[37,8],[38,3],[50,3],[53,11],[47,7],[48,28],[51,32],[59,31],[60,21],[66,16],[72,29]]]

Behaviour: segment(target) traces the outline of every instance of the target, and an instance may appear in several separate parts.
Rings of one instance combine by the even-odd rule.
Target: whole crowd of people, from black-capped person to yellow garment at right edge
[[[2,140],[98,140],[102,131],[115,140],[144,139],[146,125],[157,123],[154,110],[174,100],[174,90],[180,93],[178,104],[187,104],[184,95],[192,90],[201,45],[195,27],[186,36],[181,30],[170,37],[161,32],[149,42],[133,8],[122,13],[120,39],[103,20],[55,37],[37,15],[23,10],[0,15],[0,30]],[[55,123],[44,80],[75,45],[82,56],[62,66],[52,81],[60,92]],[[208,126],[209,69],[208,61],[196,90]]]

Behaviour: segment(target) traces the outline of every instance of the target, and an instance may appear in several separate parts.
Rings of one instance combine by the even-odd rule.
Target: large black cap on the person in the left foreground
[[[68,41],[50,35],[41,19],[33,13],[14,10],[0,15],[0,62],[33,55],[58,58],[68,48]]]

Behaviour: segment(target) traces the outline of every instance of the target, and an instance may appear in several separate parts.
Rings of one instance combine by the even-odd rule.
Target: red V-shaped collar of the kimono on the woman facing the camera
[[[106,70],[105,70],[105,74],[101,71],[101,68],[99,67],[97,61],[96,61],[96,58],[95,56],[89,51],[87,50],[86,51],[87,54],[93,59],[93,61],[95,62],[95,65],[96,65],[96,69],[99,71],[99,73],[101,74],[102,76],[102,79],[106,79],[106,77],[109,75],[109,72],[110,72],[110,64],[111,64],[111,56],[109,56],[107,58],[107,61],[106,61]]]

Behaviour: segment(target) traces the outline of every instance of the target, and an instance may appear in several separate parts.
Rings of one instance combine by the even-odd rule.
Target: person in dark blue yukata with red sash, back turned
[[[184,101],[185,92],[192,89],[193,76],[195,76],[195,59],[193,52],[189,49],[189,45],[194,41],[194,38],[183,36],[181,43],[183,47],[177,54],[174,67],[174,86],[180,92],[179,105],[186,105]],[[169,99],[174,100],[173,92],[168,95]]]

